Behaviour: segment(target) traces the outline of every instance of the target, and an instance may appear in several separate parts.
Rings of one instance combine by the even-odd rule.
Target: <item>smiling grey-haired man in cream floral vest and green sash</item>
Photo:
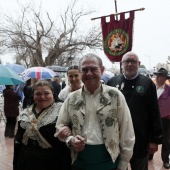
[[[125,98],[100,82],[104,67],[95,54],[85,55],[79,68],[84,86],[67,97],[56,124],[58,132],[71,125],[72,135],[64,140],[72,151],[73,170],[126,170],[135,136]]]

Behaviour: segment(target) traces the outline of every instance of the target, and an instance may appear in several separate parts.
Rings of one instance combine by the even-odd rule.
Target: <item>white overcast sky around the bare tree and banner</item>
[[[22,0],[22,3],[32,2],[38,7],[48,11],[53,17],[64,9],[68,0]],[[83,6],[96,10],[89,18],[86,18],[87,25],[100,24],[100,20],[91,21],[91,17],[109,15],[115,12],[114,0],[78,0]],[[166,63],[170,56],[170,11],[169,0],[117,0],[118,12],[129,11],[144,7],[144,11],[135,12],[133,48],[147,69],[153,68],[157,63]],[[16,0],[0,1],[0,10],[13,13],[17,10]],[[85,24],[84,24],[85,25]],[[86,26],[87,26],[86,25]],[[106,67],[112,67],[102,51],[97,52]],[[1,56],[0,56],[1,57]],[[9,61],[1,57],[3,62]]]

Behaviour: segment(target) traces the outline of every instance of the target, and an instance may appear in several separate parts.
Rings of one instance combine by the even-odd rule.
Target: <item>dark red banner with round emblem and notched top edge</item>
[[[134,11],[129,13],[129,18],[120,13],[120,20],[116,20],[114,14],[110,15],[110,22],[101,17],[104,52],[111,62],[121,61],[122,56],[132,49]]]

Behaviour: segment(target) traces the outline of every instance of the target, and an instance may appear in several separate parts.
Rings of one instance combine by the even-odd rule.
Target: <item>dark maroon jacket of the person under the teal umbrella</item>
[[[17,117],[19,115],[19,100],[21,97],[13,89],[5,89],[4,96],[4,113],[6,117]]]

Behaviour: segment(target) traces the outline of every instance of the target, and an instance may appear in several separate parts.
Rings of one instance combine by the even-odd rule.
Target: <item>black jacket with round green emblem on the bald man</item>
[[[112,77],[107,84],[119,88],[129,106],[136,136],[133,157],[145,157],[150,142],[162,143],[162,125],[155,84],[141,74],[133,80],[125,79],[121,74]]]

